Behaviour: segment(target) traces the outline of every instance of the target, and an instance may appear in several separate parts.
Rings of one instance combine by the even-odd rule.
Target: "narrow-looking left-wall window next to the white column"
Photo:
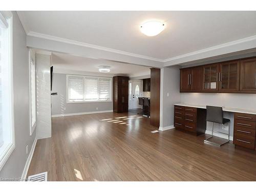
[[[30,72],[30,135],[36,126],[36,88],[35,88],[35,55],[33,50],[29,50],[29,72]]]

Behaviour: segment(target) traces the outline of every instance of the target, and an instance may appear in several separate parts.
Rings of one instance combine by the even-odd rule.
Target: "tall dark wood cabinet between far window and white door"
[[[129,77],[113,77],[113,111],[116,113],[128,112]]]

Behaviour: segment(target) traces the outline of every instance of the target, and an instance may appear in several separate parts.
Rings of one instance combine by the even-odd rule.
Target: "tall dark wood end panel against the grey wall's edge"
[[[151,69],[150,124],[160,124],[160,69]]]

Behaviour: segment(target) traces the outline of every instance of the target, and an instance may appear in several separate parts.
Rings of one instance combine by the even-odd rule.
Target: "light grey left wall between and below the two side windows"
[[[0,172],[1,178],[21,178],[35,133],[29,126],[29,50],[17,13],[13,14],[13,85],[15,149]],[[28,145],[28,154],[26,146]]]

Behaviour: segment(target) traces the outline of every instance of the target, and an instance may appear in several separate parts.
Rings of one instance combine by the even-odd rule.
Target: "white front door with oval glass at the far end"
[[[139,109],[139,97],[142,96],[142,81],[130,80],[129,81],[129,109]]]

